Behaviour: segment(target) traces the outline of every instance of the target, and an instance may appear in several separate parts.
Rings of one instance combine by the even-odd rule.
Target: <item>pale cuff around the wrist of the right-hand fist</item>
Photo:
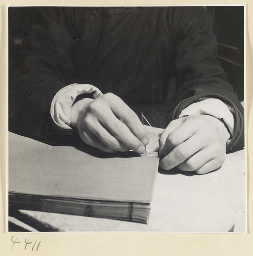
[[[219,99],[204,99],[200,102],[196,102],[182,110],[179,115],[180,117],[189,115],[200,115],[208,114],[214,116],[218,119],[223,119],[230,134],[233,135],[234,128],[234,118],[233,114],[230,112],[228,106]]]

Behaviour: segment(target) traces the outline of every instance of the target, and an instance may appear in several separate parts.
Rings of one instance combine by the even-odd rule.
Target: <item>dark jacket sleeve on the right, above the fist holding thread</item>
[[[181,7],[171,11],[169,22],[174,31],[176,57],[173,75],[177,79],[175,105],[169,121],[177,119],[181,111],[193,102],[203,98],[220,99],[232,108],[235,124],[227,152],[242,148],[244,109],[216,60],[217,41],[211,17],[203,7]]]

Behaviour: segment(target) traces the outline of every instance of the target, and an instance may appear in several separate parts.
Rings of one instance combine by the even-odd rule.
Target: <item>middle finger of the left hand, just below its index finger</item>
[[[145,151],[143,143],[135,137],[135,135],[129,130],[128,126],[120,122],[114,115],[110,108],[105,109],[103,114],[99,116],[99,122],[111,132],[111,134],[121,141],[127,148],[142,154]],[[142,126],[142,128],[144,128]]]

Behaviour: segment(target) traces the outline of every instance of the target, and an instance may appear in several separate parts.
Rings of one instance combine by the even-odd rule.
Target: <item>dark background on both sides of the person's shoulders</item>
[[[208,6],[218,41],[217,59],[239,100],[244,99],[244,6]],[[9,77],[29,52],[28,32],[40,24],[38,7],[9,7]],[[173,82],[170,87],[173,90]],[[11,88],[9,88],[11,91]],[[171,94],[172,95],[172,94]],[[171,97],[171,96],[170,96]],[[168,99],[170,101],[171,99]]]

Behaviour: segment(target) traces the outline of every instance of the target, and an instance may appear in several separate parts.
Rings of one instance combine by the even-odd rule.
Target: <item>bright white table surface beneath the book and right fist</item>
[[[150,146],[157,149],[157,140]],[[44,225],[44,231],[68,232],[243,233],[245,206],[246,171],[244,150],[240,150],[227,154],[222,167],[206,175],[159,169],[148,224],[28,210],[10,214],[9,221],[22,226],[21,220],[26,228],[24,223],[30,219],[34,223],[26,228],[30,231],[41,231],[37,227]]]

